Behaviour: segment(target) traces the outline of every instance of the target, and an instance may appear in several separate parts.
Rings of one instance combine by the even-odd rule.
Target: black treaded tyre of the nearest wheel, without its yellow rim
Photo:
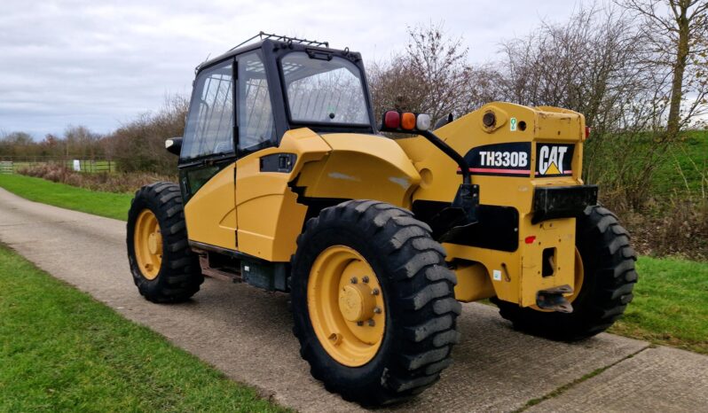
[[[366,406],[402,401],[440,378],[460,339],[455,320],[454,273],[427,224],[405,209],[354,200],[321,211],[307,222],[292,259],[295,336],[311,374],[330,392]],[[360,253],[379,279],[386,328],[374,358],[360,367],[336,362],[319,343],[307,307],[310,269],[319,253],[346,245]]]

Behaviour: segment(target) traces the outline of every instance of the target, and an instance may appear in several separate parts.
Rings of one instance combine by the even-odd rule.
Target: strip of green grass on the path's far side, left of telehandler
[[[0,187],[22,198],[125,221],[132,194],[97,192],[25,175],[0,175]]]

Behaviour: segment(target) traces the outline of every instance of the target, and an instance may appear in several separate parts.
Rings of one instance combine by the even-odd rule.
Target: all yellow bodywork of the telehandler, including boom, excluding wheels
[[[496,115],[496,124],[487,128],[483,116],[489,112]],[[511,125],[521,122],[523,129]],[[444,244],[458,275],[457,299],[496,295],[527,307],[536,303],[539,290],[573,287],[575,219],[533,224],[531,207],[537,187],[582,184],[583,116],[552,107],[492,103],[435,133],[462,155],[485,144],[531,144],[531,175],[473,175],[480,204],[518,211],[519,244],[514,252]],[[537,176],[537,143],[575,144],[572,174]],[[289,172],[261,170],[261,158],[276,153],[295,154]],[[190,240],[284,262],[295,253],[308,212],[306,199],[377,199],[411,209],[418,200],[451,202],[460,183],[457,164],[422,136],[394,140],[295,129],[287,131],[279,147],[249,154],[212,177],[187,203],[185,217]],[[527,243],[529,237],[533,241]],[[545,248],[555,248],[550,277],[541,274]]]

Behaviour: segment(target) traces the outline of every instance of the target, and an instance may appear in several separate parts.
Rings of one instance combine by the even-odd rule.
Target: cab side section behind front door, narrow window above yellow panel
[[[267,64],[274,59],[266,60],[264,54],[267,51],[256,50],[237,57],[238,248],[267,261],[288,261],[307,207],[297,204],[295,192],[287,186],[296,157],[278,143],[273,107],[278,104],[279,81],[277,70],[271,66],[269,71]]]

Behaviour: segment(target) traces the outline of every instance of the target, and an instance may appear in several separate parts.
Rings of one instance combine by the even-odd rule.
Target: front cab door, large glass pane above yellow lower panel
[[[233,59],[197,75],[179,159],[190,242],[236,250]]]

